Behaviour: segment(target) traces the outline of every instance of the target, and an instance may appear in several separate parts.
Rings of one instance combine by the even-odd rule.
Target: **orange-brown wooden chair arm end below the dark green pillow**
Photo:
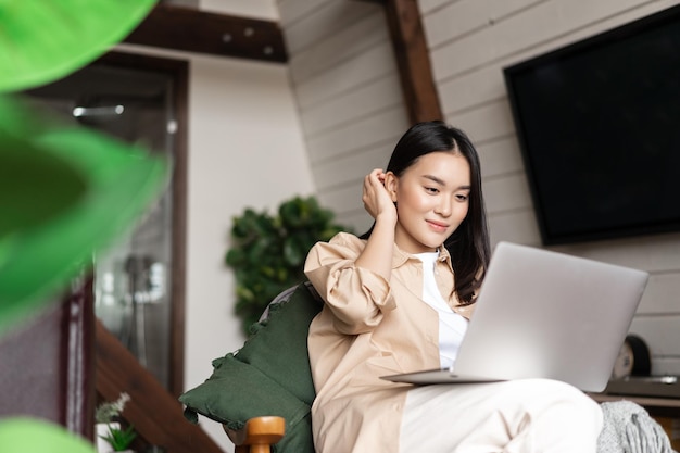
[[[236,445],[236,453],[270,453],[272,444],[286,433],[286,420],[274,416],[254,417],[242,429],[232,430],[224,425],[223,428]]]

